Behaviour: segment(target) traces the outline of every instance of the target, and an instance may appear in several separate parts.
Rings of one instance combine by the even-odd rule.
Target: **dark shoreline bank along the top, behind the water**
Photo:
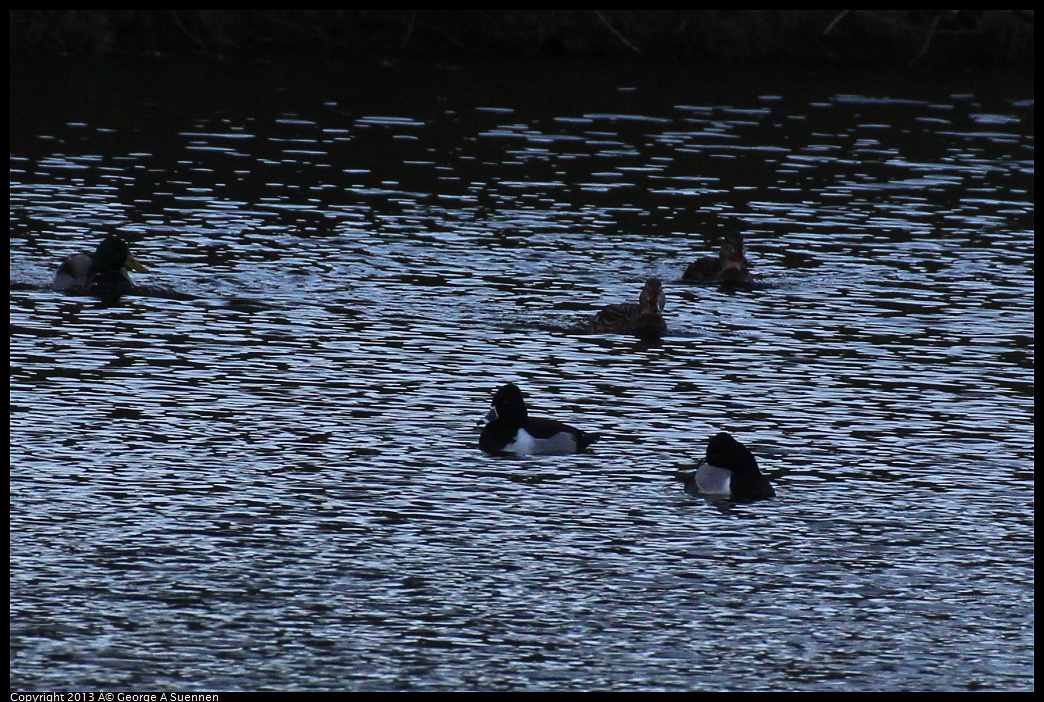
[[[1034,65],[1034,10],[10,10],[10,54]]]

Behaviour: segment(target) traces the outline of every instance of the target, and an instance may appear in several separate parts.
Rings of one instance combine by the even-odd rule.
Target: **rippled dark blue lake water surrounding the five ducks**
[[[1031,75],[13,60],[10,116],[13,691],[1034,688]],[[110,231],[146,294],[48,289]],[[759,286],[681,282],[732,231]],[[652,275],[661,343],[583,330]],[[507,381],[604,438],[484,455]],[[685,492],[718,430],[775,499]]]

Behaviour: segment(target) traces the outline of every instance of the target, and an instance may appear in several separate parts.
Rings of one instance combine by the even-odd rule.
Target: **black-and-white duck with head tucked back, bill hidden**
[[[694,468],[679,471],[690,492],[730,497],[738,501],[776,496],[768,478],[758,470],[750,449],[720,431],[707,442],[707,455]]]

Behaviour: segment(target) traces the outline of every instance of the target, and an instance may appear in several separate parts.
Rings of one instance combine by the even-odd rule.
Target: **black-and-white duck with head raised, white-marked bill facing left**
[[[478,446],[494,454],[578,453],[599,438],[554,419],[530,417],[522,391],[513,382],[493,395],[484,423]]]

